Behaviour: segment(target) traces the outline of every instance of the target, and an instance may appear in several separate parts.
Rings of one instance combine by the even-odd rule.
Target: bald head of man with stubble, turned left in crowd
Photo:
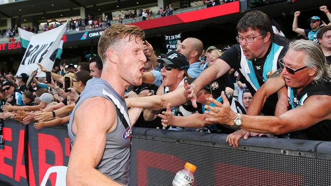
[[[186,38],[177,45],[177,51],[185,55],[190,63],[196,63],[202,54],[203,43],[197,38]]]

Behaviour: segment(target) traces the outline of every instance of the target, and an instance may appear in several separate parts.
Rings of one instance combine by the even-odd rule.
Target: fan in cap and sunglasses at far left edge
[[[11,81],[4,81],[2,84],[2,89],[8,96],[7,103],[10,105],[22,106],[22,94],[15,89],[14,84]]]

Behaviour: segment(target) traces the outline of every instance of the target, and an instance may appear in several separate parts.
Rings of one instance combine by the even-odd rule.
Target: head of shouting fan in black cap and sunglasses
[[[185,72],[189,68],[189,62],[179,52],[171,51],[166,58],[157,59],[157,62],[162,64],[162,85],[169,86],[171,91],[176,89],[180,81],[187,76]]]

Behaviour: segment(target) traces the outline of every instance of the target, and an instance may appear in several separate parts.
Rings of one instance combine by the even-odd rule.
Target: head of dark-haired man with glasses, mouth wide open
[[[273,38],[270,18],[261,11],[247,12],[237,24],[237,41],[246,58],[261,58],[267,52]]]

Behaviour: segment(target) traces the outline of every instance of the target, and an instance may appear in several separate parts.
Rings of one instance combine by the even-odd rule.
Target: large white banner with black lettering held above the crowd
[[[60,44],[62,44],[61,38],[66,27],[67,22],[47,32],[33,35],[29,45],[26,47],[16,75],[19,76],[21,73],[26,73],[30,76],[33,71],[38,69],[37,63],[51,71],[55,58],[52,57],[53,60],[51,60],[50,56],[60,48]],[[37,77],[45,77],[45,73],[38,69]]]

